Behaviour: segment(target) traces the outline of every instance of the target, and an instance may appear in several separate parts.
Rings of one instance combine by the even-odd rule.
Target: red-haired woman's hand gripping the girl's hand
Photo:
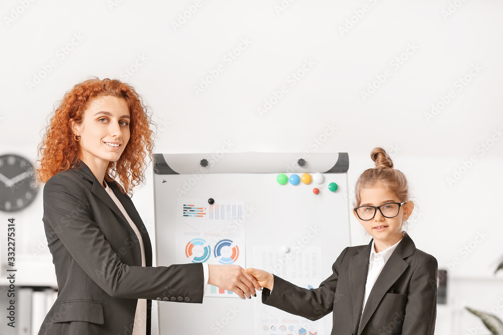
[[[261,291],[261,286],[255,277],[246,273],[239,265],[208,264],[208,284],[232,291],[241,299],[256,296],[255,289]]]

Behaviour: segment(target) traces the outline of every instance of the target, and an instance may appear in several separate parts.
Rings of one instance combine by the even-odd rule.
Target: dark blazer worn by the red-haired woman
[[[58,297],[39,334],[130,334],[137,299],[201,303],[201,264],[151,267],[152,247],[131,199],[108,182],[140,231],[147,267],[141,267],[139,241],[126,218],[89,167],[60,172],[44,186],[45,233],[56,269]]]

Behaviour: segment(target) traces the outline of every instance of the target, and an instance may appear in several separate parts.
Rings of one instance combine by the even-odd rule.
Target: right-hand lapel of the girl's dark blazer
[[[365,310],[363,311],[362,322],[360,323],[358,334],[360,334],[365,328],[365,325],[381,302],[384,294],[386,294],[391,285],[393,285],[398,278],[400,278],[405,269],[407,269],[408,264],[403,259],[412,255],[414,249],[414,243],[410,237],[405,234],[400,244],[396,247],[395,251],[386,262],[386,265],[382,269],[381,274],[377,278],[376,283],[370,292],[367,303],[365,304]]]

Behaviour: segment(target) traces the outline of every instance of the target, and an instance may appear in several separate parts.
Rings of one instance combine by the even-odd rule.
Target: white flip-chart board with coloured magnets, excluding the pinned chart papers
[[[206,167],[201,166],[205,163]],[[245,267],[254,267],[254,246],[289,247],[290,252],[299,246],[319,246],[325,279],[332,273],[333,262],[350,245],[348,168],[347,153],[156,154],[156,265],[176,264],[177,252],[186,246],[175,234],[180,199],[239,200],[251,211],[244,224]],[[322,184],[313,181],[294,186],[276,181],[279,173],[301,176],[316,172],[323,174]],[[328,189],[330,182],[337,183],[337,191]],[[313,193],[315,187],[318,194]],[[202,304],[159,302],[159,333],[237,334],[247,330],[253,334],[254,299],[205,296]],[[331,314],[324,323],[325,333],[329,333]]]

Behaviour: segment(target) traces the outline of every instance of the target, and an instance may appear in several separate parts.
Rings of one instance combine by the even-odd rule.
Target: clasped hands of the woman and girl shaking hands
[[[239,265],[208,265],[208,284],[232,291],[241,299],[257,296],[262,287],[273,289],[274,277],[271,273]]]

